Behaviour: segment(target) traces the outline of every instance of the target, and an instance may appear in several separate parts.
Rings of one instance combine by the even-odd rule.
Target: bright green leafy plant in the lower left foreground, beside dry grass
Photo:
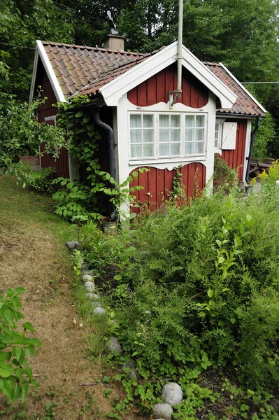
[[[22,323],[23,332],[19,332],[17,323],[24,318],[19,311],[22,304],[20,297],[26,290],[21,287],[6,290],[6,297],[0,293],[0,392],[8,400],[15,402],[20,397],[27,397],[29,386],[38,386],[27,358],[36,355],[36,346],[41,342],[29,338],[26,331],[36,332],[29,322]]]

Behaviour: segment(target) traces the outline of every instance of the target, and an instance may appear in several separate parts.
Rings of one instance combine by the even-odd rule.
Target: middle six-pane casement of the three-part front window
[[[159,156],[180,155],[180,115],[159,115]]]

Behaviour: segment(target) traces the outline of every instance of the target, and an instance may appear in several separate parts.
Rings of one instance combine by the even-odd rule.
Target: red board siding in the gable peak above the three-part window
[[[177,64],[171,64],[128,92],[129,101],[137,106],[150,106],[169,101],[169,92],[177,89]],[[192,108],[208,103],[208,89],[183,67],[182,97],[178,102]]]

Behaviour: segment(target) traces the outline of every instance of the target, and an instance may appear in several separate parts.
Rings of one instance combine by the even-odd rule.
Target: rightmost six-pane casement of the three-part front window
[[[185,155],[204,153],[205,118],[203,115],[185,116]]]

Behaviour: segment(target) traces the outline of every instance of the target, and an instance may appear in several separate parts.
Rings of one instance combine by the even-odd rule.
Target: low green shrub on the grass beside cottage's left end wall
[[[53,190],[50,175],[56,172],[55,168],[43,168],[40,171],[31,169],[29,163],[18,162],[10,167],[10,174],[17,177],[17,184],[22,187],[29,186],[43,193],[51,193]]]

